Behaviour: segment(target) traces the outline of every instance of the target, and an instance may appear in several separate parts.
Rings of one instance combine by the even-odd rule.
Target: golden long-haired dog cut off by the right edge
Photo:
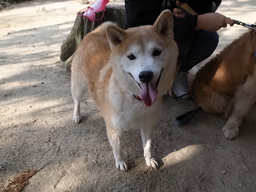
[[[205,64],[196,74],[192,96],[211,114],[223,114],[228,122],[225,137],[238,135],[243,117],[256,117],[256,31],[247,33]]]

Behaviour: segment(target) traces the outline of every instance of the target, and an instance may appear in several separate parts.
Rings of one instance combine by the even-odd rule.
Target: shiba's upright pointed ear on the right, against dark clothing
[[[159,17],[156,19],[156,22],[153,25],[153,28],[165,36],[169,36],[173,39],[173,17],[171,11],[166,9]]]

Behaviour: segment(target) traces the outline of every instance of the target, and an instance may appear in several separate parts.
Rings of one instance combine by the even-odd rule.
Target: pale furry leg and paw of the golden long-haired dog
[[[256,67],[254,67],[256,69]],[[255,71],[255,70],[254,70]],[[234,97],[234,110],[228,117],[228,122],[223,127],[225,137],[232,139],[238,135],[239,126],[243,117],[249,112],[256,102],[256,71],[250,75],[245,83],[237,87]]]

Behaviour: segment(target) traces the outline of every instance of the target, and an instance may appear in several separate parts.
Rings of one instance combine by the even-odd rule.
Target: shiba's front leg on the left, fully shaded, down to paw
[[[126,172],[128,169],[127,161],[122,151],[122,138],[123,131],[117,130],[114,126],[107,126],[107,135],[109,138],[110,145],[113,149],[116,168],[120,168],[121,171]]]

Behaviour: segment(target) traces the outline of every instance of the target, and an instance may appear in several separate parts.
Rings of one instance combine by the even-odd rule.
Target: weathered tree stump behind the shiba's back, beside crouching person
[[[79,13],[83,14],[83,12]],[[102,17],[102,12],[96,12],[96,20]],[[84,36],[93,31],[97,26],[105,21],[114,21],[120,28],[126,28],[126,14],[124,5],[109,5],[106,7],[104,16],[98,21],[89,21],[86,17],[76,16],[73,28],[69,36],[64,40],[60,48],[60,59],[64,62],[66,71],[70,71],[71,57],[76,51],[76,47],[83,40]]]

